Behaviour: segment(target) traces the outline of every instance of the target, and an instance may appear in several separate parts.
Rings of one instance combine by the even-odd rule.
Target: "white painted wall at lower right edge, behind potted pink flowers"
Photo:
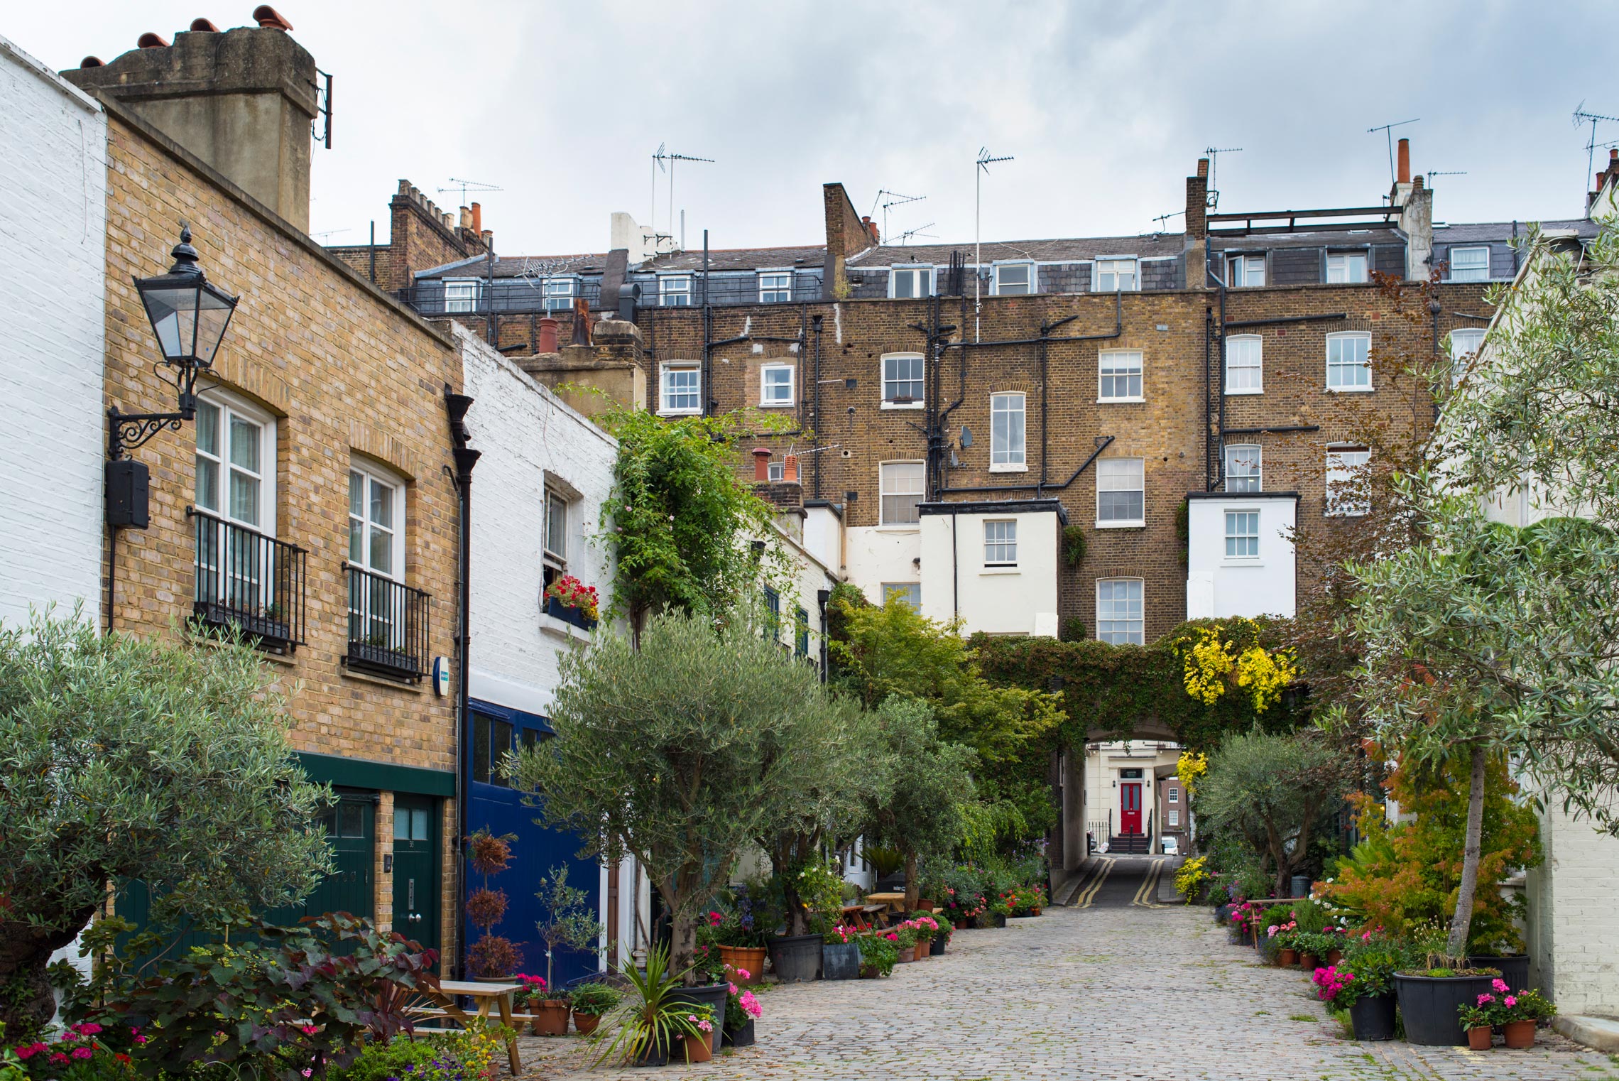
[[[1528,872],[1530,960],[1559,1013],[1619,1016],[1619,838],[1556,806],[1541,816],[1546,863]]]

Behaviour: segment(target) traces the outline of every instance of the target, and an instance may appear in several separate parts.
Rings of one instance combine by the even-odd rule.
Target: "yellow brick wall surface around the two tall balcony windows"
[[[429,655],[453,657],[458,503],[444,466],[442,388],[460,362],[437,330],[345,273],[306,236],[256,207],[126,115],[108,123],[107,405],[172,411],[154,374],[151,325],[131,277],[162,273],[181,223],[210,282],[238,293],[214,377],[277,418],[277,536],[308,550],[306,639],[269,657],[300,751],[431,770],[455,769],[453,697],[348,673],[348,466],[382,461],[406,485],[405,581],[432,596]],[[201,384],[199,384],[201,387]],[[194,579],[196,429],[164,432],[134,458],[151,468],[151,528],[117,540],[118,630],[160,634],[189,615]],[[377,816],[376,916],[392,918],[392,798]],[[445,932],[453,927],[453,803],[445,801]],[[444,937],[445,947],[450,937]],[[450,952],[447,950],[447,956]]]

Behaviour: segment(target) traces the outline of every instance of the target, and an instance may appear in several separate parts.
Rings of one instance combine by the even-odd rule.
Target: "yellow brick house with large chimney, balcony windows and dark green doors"
[[[165,270],[181,225],[240,295],[194,422],[131,451],[151,519],[113,531],[108,625],[249,634],[306,772],[340,796],[338,874],[275,916],[372,916],[453,966],[457,728],[429,673],[455,652],[460,356],[304,233],[314,60],[283,29],[181,32],[63,76],[107,115],[105,406],[175,409],[131,278]],[[139,892],[120,909],[139,918]]]

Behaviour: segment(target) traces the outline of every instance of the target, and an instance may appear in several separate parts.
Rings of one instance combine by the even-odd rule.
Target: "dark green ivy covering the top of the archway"
[[[1230,731],[1292,731],[1305,720],[1303,709],[1284,696],[1263,714],[1242,694],[1224,694],[1213,706],[1193,699],[1185,688],[1185,654],[1205,628],[1219,628],[1235,647],[1285,642],[1282,620],[1190,620],[1149,646],[1112,646],[1098,641],[1052,638],[994,638],[976,634],[968,642],[978,668],[991,683],[1049,691],[1060,678],[1064,722],[1060,736],[1077,744],[1103,730],[1128,738],[1141,722],[1159,720],[1193,751],[1209,749]]]

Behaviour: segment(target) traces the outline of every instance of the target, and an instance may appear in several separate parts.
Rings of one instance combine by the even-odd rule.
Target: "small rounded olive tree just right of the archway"
[[[1276,893],[1308,859],[1310,837],[1350,786],[1352,765],[1323,733],[1227,736],[1198,783],[1198,816],[1276,867]]]

